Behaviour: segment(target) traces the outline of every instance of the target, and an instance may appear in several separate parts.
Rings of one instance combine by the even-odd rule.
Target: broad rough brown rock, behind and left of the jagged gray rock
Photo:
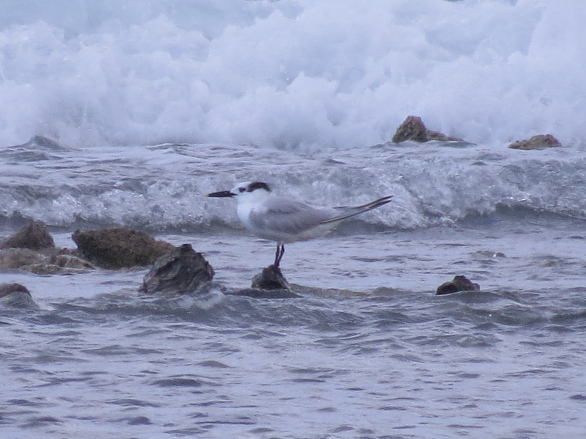
[[[175,246],[124,227],[79,231],[71,235],[84,258],[107,269],[145,267]]]

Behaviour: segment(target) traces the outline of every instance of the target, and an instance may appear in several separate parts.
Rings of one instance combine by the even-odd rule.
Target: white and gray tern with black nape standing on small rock
[[[323,236],[344,219],[387,204],[393,196],[355,207],[315,208],[291,198],[275,197],[267,183],[246,181],[229,191],[213,192],[206,197],[236,197],[236,213],[244,227],[259,238],[277,241],[273,264],[276,268],[286,243]]]

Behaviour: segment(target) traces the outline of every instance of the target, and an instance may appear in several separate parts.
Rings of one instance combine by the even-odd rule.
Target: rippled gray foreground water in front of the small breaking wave
[[[146,270],[3,275],[40,306],[2,308],[3,437],[581,437],[583,227],[504,210],[339,231],[288,246],[300,299],[141,297]],[[159,237],[234,287],[272,258],[246,234]],[[461,273],[482,291],[434,296]]]

